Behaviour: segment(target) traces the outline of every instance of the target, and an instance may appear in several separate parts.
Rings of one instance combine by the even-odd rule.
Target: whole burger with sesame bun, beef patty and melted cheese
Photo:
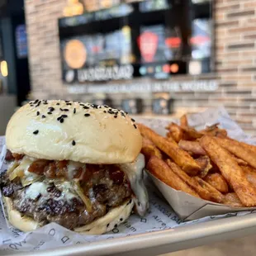
[[[149,206],[140,131],[107,106],[36,100],[7,125],[0,184],[9,222],[31,231],[55,222],[103,234]]]

